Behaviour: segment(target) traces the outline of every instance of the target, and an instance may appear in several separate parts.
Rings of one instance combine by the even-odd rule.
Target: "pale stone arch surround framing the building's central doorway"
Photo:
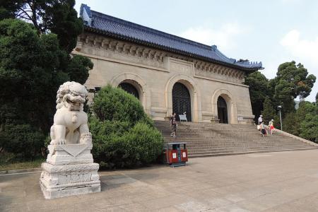
[[[190,99],[191,99],[191,119],[192,122],[201,122],[202,121],[202,112],[201,112],[201,93],[194,82],[193,78],[190,78],[184,74],[176,74],[172,76],[165,86],[165,103],[167,107],[167,117],[170,117],[172,114],[173,104],[172,104],[172,89],[175,86],[175,83],[182,83],[187,90],[189,90]]]

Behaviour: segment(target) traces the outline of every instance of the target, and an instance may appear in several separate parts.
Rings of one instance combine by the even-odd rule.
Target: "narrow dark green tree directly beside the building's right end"
[[[249,96],[255,121],[261,114],[261,110],[264,110],[263,102],[269,96],[268,83],[269,80],[259,71],[249,73],[245,78],[245,85],[249,86]]]

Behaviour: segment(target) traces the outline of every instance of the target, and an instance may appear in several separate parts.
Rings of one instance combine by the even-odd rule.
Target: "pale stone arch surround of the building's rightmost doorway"
[[[228,123],[229,124],[237,124],[237,106],[236,106],[235,99],[233,98],[232,94],[224,88],[216,90],[213,93],[213,96],[212,96],[213,116],[216,117],[216,119],[219,119],[218,118],[218,116],[220,115],[220,114],[218,114],[218,99],[219,99],[219,97],[221,97],[226,103]]]

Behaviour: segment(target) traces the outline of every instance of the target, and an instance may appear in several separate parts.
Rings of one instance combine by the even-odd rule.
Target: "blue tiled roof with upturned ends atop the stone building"
[[[86,30],[97,31],[98,33],[140,42],[179,54],[186,54],[190,57],[199,57],[207,61],[213,61],[247,71],[262,69],[261,62],[237,61],[236,59],[226,57],[217,49],[216,45],[210,47],[199,42],[91,11],[90,7],[86,4],[81,5],[80,15],[84,20]]]

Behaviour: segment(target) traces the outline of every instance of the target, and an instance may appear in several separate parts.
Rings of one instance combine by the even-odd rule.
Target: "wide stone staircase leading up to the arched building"
[[[189,158],[318,148],[278,131],[263,138],[253,125],[178,122],[176,138],[170,136],[169,122],[155,121],[155,126],[166,143],[187,142]]]

